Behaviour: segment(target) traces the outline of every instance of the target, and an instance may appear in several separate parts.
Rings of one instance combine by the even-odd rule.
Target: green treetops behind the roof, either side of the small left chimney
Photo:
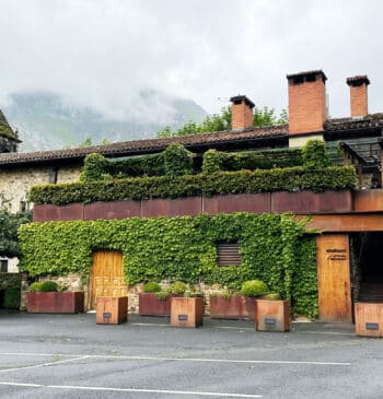
[[[254,108],[254,127],[267,127],[288,124],[287,110],[282,109],[279,116],[276,110],[269,107]],[[222,131],[231,129],[231,106],[223,107],[220,114],[208,115],[201,124],[197,125],[189,120],[177,130],[166,126],[156,133],[159,138],[179,137],[188,134],[198,134],[213,131]]]

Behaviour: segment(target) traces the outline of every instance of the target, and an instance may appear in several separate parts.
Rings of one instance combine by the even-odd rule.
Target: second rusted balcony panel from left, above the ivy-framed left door
[[[126,219],[140,215],[140,201],[93,202],[84,206],[84,220]]]

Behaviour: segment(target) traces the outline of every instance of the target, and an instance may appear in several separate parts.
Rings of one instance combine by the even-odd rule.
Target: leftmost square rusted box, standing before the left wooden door
[[[128,320],[127,296],[97,296],[96,324],[120,325]]]

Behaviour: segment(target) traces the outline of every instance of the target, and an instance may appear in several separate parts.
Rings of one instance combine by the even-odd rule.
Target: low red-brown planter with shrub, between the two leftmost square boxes
[[[160,284],[148,282],[139,293],[140,316],[170,316],[171,300],[169,291],[161,291]]]

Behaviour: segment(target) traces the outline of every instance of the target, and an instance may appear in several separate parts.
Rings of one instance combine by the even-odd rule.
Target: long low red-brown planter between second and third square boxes
[[[255,298],[244,295],[210,296],[210,317],[254,319]]]

